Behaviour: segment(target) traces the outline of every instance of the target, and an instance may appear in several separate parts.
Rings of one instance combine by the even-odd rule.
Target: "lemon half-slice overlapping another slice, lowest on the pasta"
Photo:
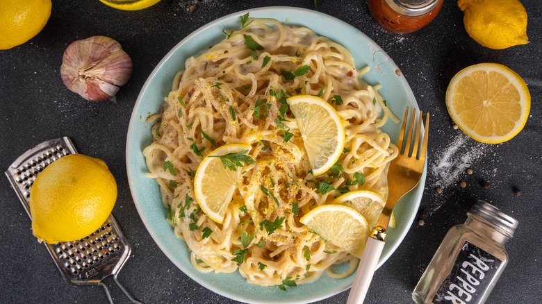
[[[354,208],[321,205],[305,214],[300,221],[331,244],[361,257],[369,236],[369,224]]]

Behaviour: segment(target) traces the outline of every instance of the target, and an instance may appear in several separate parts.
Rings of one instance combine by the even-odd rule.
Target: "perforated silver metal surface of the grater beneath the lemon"
[[[77,153],[68,137],[38,144],[21,155],[6,171],[30,217],[28,200],[38,174],[65,155]],[[64,280],[69,284],[99,284],[106,276],[116,275],[128,260],[131,246],[120,230],[113,214],[94,233],[72,242],[46,244]]]

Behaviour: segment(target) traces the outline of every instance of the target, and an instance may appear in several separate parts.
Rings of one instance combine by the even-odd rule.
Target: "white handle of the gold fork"
[[[384,248],[383,241],[368,237],[367,244],[361,255],[359,261],[358,270],[356,271],[356,277],[352,282],[352,288],[350,289],[350,295],[348,296],[347,304],[361,304],[365,300],[369,285],[371,284],[372,275],[375,274],[377,269],[378,260],[382,254]]]

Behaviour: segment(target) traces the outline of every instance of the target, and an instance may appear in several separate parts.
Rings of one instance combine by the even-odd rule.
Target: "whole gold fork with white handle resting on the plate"
[[[423,142],[420,152],[420,131],[422,128],[422,111],[418,117],[418,125],[414,128],[416,120],[416,110],[412,109],[412,119],[410,121],[409,130],[405,131],[407,126],[407,118],[409,117],[409,108],[404,111],[403,124],[397,141],[399,155],[395,160],[392,160],[388,169],[388,184],[389,194],[384,210],[380,214],[377,225],[372,229],[361,255],[359,267],[356,273],[356,278],[352,283],[350,295],[348,296],[347,304],[363,303],[367,291],[369,289],[372,276],[375,273],[377,264],[386,242],[388,223],[391,217],[393,206],[404,194],[409,193],[422,178],[423,168],[425,167],[425,158],[427,156],[427,139],[429,137],[429,113],[425,118],[425,132],[423,134]],[[408,132],[408,133],[407,133]],[[407,140],[404,140],[407,133]],[[412,143],[413,136],[416,136]],[[410,149],[412,146],[412,149]],[[404,147],[404,151],[403,150]]]

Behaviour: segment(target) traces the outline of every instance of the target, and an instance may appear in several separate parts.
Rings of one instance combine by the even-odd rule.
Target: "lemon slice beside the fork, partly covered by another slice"
[[[347,192],[336,198],[333,203],[350,205],[365,217],[369,223],[369,227],[376,225],[380,213],[386,204],[382,196],[367,190]]]

